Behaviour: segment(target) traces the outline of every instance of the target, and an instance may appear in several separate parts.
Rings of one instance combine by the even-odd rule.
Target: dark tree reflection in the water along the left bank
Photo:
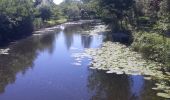
[[[57,34],[32,36],[10,46],[9,55],[0,55],[0,93],[8,84],[14,83],[16,74],[33,68],[39,51],[53,52],[53,42]]]

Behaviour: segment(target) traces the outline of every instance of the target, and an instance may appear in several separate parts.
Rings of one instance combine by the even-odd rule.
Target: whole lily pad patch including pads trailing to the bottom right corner
[[[141,54],[134,52],[131,48],[113,42],[105,42],[101,48],[86,49],[87,55],[93,59],[91,69],[106,70],[106,73],[143,75],[145,80],[158,80],[154,90],[161,91],[157,96],[170,98],[170,86],[162,84],[170,79],[169,72],[161,71],[162,64],[146,60]]]

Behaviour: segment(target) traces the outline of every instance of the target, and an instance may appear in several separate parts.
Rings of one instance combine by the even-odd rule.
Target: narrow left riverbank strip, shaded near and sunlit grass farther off
[[[7,35],[0,34],[0,46],[4,47],[11,42],[15,42],[20,39],[26,38],[26,37],[34,34],[38,30],[42,30],[44,28],[49,28],[49,27],[54,27],[56,25],[61,25],[65,22],[67,22],[67,19],[64,19],[64,18],[59,19],[59,20],[49,20],[46,22],[42,22],[40,20],[40,21],[33,23],[32,27],[34,27],[34,28],[32,30],[27,31],[24,29],[20,29],[20,32],[18,32],[19,30],[15,29],[10,34],[9,33]],[[23,28],[25,28],[25,27],[23,27]]]

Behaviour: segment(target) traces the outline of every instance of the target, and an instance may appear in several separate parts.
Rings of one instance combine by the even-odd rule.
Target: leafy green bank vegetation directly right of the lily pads
[[[134,32],[133,36],[132,47],[135,51],[141,52],[145,58],[160,62],[164,68],[170,69],[170,38],[144,31]]]

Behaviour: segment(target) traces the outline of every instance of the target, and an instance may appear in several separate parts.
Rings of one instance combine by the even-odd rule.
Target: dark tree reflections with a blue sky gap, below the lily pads
[[[143,76],[107,74],[105,71],[90,70],[88,90],[91,100],[163,100],[151,89],[153,81]]]

